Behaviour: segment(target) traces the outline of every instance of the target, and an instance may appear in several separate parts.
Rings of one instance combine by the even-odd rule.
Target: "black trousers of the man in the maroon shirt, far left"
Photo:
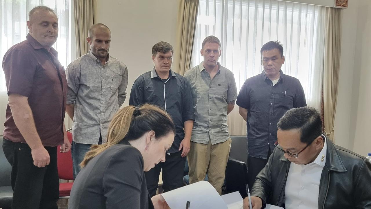
[[[27,144],[3,140],[6,159],[12,165],[12,209],[58,209],[59,180],[57,147],[45,147],[50,164],[38,168],[33,165]]]

